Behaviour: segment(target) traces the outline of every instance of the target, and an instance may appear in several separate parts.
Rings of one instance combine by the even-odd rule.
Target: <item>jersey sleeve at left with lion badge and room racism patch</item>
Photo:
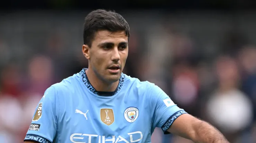
[[[39,101],[24,141],[52,143],[57,130],[56,93],[49,87]]]

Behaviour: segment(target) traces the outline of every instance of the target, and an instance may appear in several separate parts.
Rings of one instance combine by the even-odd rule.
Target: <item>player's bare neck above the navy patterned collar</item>
[[[116,81],[115,83],[107,83],[106,81],[103,81],[95,75],[93,70],[91,68],[88,68],[85,71],[88,80],[90,81],[91,85],[94,87],[95,90],[97,91],[107,91],[107,92],[112,92],[115,91],[118,84],[119,80]]]

